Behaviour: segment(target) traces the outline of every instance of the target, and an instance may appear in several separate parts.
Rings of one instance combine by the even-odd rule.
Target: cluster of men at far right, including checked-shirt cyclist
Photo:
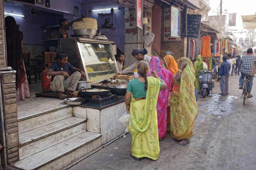
[[[250,82],[248,82],[248,98],[253,97],[251,95],[251,90],[253,86],[253,77],[255,74],[255,67],[256,67],[256,56],[253,55],[253,49],[248,48],[247,54],[244,55],[242,58],[237,56],[236,59],[231,59],[231,54],[228,53],[226,56],[222,57],[223,63],[221,63],[219,69],[219,76],[221,76],[221,95],[229,94],[229,79],[230,76],[233,75],[233,72],[239,75],[241,72],[241,76],[239,78],[239,89],[243,89],[243,82],[242,79],[247,76],[249,77]]]

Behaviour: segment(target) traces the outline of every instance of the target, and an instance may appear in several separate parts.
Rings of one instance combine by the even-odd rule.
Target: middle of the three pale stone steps
[[[85,132],[87,119],[69,117],[19,134],[20,160]]]

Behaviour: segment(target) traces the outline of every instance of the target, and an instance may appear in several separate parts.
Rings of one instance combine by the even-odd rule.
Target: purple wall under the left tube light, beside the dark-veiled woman
[[[45,44],[41,41],[43,39],[41,26],[58,25],[58,21],[63,18],[63,15],[48,12],[44,15],[23,13],[31,11],[31,8],[9,4],[4,4],[4,9],[8,13],[25,15],[25,17],[13,16],[16,23],[20,25],[20,31],[23,32],[23,44]]]

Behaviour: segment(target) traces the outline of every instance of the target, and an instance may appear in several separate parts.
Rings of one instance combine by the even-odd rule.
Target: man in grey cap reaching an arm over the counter
[[[148,51],[145,48],[142,48],[142,49],[135,48],[131,52],[131,54],[137,59],[137,61],[133,65],[129,66],[128,68],[125,68],[124,70],[119,71],[119,73],[113,76],[114,78],[116,78],[119,74],[127,74],[127,73],[130,73],[131,71],[134,71],[137,68],[138,63],[140,61],[145,61],[148,64],[150,63],[151,57],[146,55],[148,54]]]

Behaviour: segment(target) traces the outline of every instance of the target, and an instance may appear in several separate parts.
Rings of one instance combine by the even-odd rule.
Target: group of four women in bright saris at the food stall
[[[144,49],[136,51],[132,54],[138,60],[139,77],[128,83],[125,94],[132,135],[130,154],[136,161],[143,157],[157,160],[159,141],[166,131],[180,140],[180,145],[188,144],[193,135],[198,114],[195,70],[186,57],[176,62],[171,51],[164,57],[166,68],[158,57],[150,57],[149,63],[144,57],[137,57]]]

